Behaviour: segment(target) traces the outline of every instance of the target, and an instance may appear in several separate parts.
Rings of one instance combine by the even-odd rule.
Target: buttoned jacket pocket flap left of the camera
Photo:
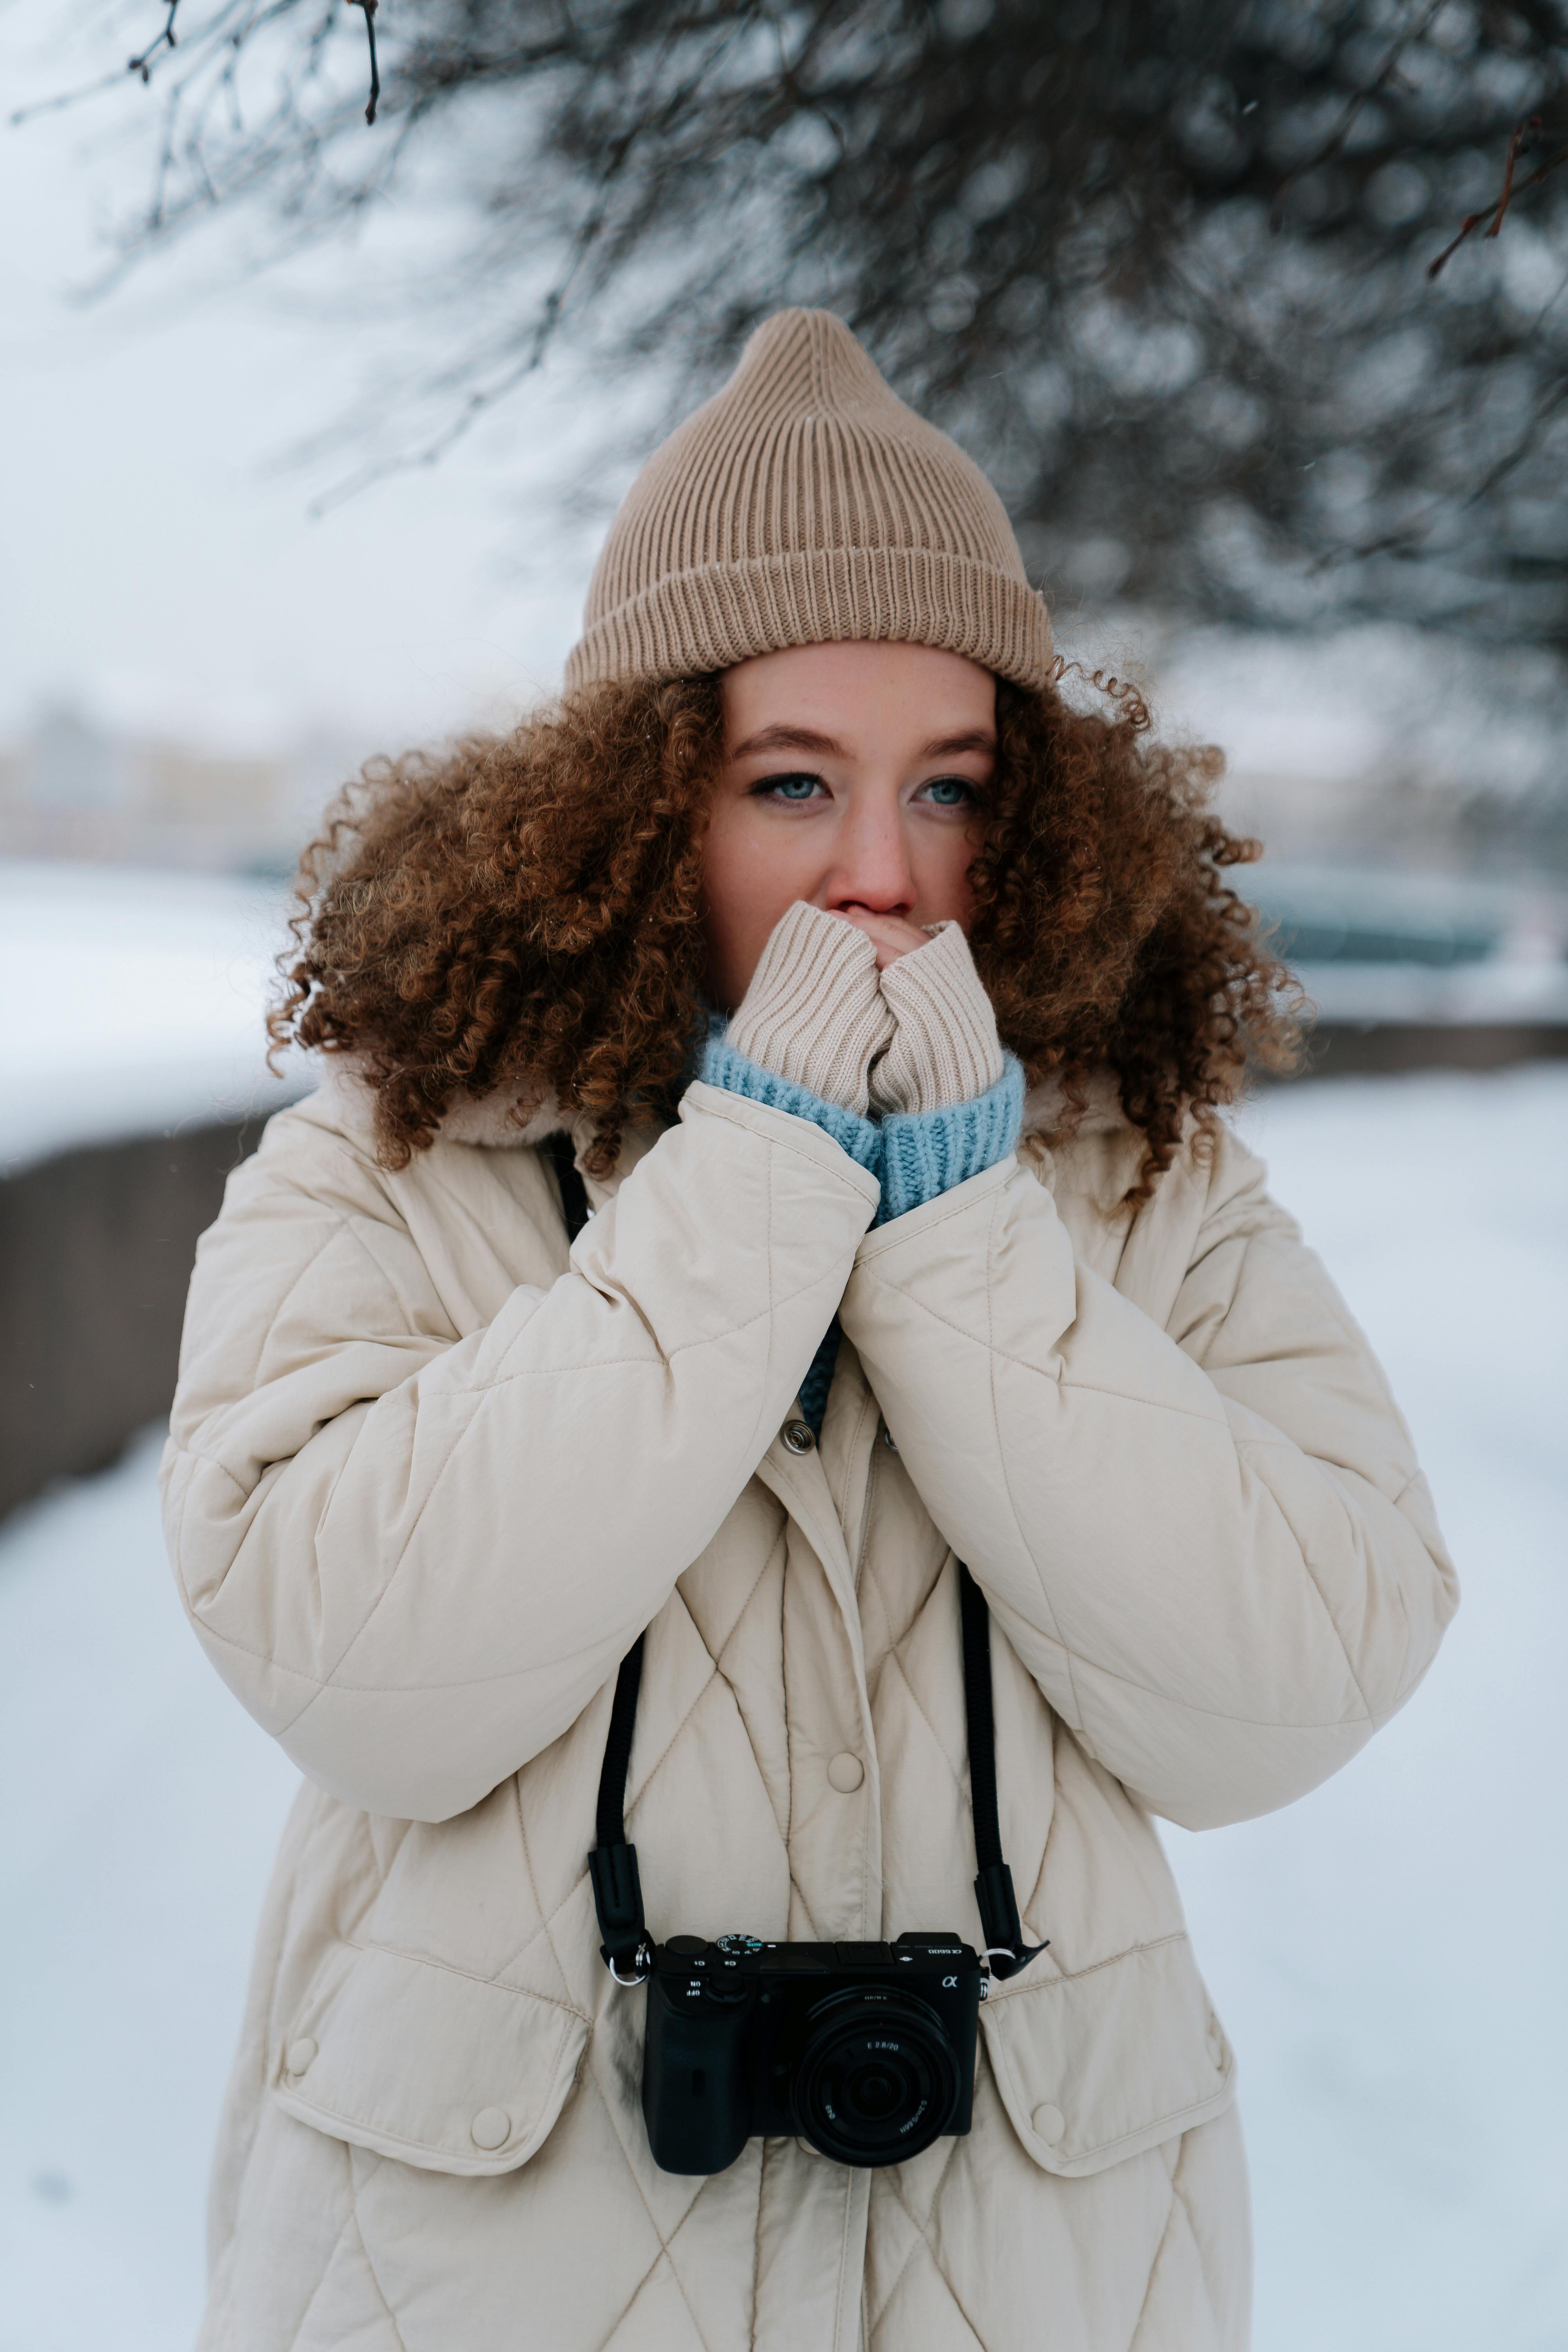
[[[383,1945],[336,1945],[277,2053],[301,2124],[437,2173],[510,2173],[543,2147],[588,2018]]]

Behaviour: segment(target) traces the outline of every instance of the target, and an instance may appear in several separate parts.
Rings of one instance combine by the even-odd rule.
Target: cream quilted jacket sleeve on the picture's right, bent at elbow
[[[1199,1188],[1164,1322],[1074,1258],[1018,1162],[870,1235],[842,1322],[1044,1696],[1197,1830],[1345,1764],[1458,1585],[1382,1371],[1260,1164],[1225,1136],[1164,1183]]]

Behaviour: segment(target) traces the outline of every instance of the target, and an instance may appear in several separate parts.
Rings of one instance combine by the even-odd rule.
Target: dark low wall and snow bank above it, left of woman
[[[197,1235],[263,1117],[273,882],[0,861],[0,1517],[174,1395]]]

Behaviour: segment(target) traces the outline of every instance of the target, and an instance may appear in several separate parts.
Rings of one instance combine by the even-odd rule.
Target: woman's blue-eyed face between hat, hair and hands
[[[929,644],[802,644],[724,673],[724,771],[703,858],[708,990],[733,1011],[797,898],[879,962],[969,927],[997,760],[997,680]]]

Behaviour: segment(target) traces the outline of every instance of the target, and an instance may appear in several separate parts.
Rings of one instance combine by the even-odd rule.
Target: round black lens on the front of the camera
[[[924,2002],[851,1987],[811,2011],[795,2124],[825,2157],[907,2164],[940,2138],[957,2100],[957,2056]]]

